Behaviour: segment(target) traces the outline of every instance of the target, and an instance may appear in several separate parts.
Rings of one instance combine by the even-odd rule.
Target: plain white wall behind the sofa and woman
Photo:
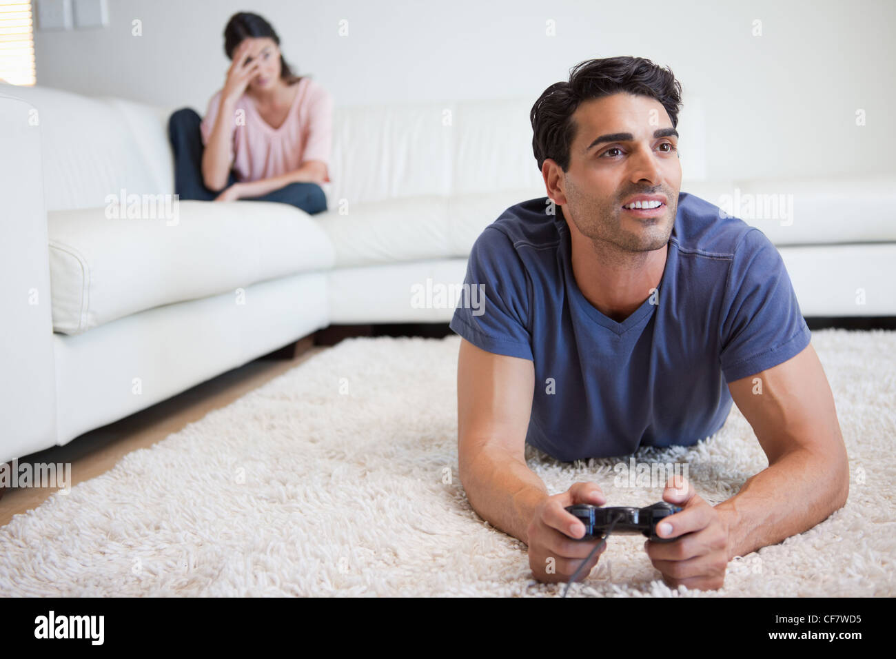
[[[37,0],[39,2],[39,0]],[[109,0],[108,28],[38,31],[38,84],[204,114],[228,67],[222,32],[262,14],[287,60],[339,106],[524,97],[583,59],[671,66],[702,97],[712,178],[892,173],[892,0]],[[132,22],[142,36],[132,36]],[[349,35],[340,37],[345,19]],[[556,36],[546,35],[547,20]],[[754,20],[762,36],[752,35]],[[858,108],[866,126],[856,126]],[[686,135],[681,147],[686,149]],[[534,167],[533,160],[533,167]]]

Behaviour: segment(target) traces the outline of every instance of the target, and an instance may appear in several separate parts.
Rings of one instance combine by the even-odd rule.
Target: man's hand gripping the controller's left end
[[[547,497],[536,508],[529,525],[529,567],[538,581],[569,581],[575,571],[587,559],[599,540],[582,542],[573,540],[585,534],[585,525],[564,508],[584,503],[603,506],[607,502],[597,483],[577,482],[569,490]],[[571,537],[567,537],[571,536]],[[588,566],[582,570],[581,581],[588,577],[598,564],[600,554],[607,550],[605,544]]]

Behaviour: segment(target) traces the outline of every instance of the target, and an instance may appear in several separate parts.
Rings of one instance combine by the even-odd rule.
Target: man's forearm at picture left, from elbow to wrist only
[[[529,544],[528,527],[547,488],[520,459],[500,449],[481,449],[461,461],[461,483],[478,515]]]

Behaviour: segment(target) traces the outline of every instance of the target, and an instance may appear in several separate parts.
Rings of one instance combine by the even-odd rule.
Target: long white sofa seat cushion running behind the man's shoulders
[[[779,246],[896,242],[892,178],[685,181],[681,190],[732,211]],[[314,219],[330,237],[338,267],[466,257],[505,209],[545,195],[537,182],[480,194],[346,202]]]

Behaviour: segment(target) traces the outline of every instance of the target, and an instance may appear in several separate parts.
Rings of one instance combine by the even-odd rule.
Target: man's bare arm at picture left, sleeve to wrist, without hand
[[[470,504],[522,542],[547,489],[525,460],[535,369],[530,360],[461,339],[457,369],[458,462]]]

